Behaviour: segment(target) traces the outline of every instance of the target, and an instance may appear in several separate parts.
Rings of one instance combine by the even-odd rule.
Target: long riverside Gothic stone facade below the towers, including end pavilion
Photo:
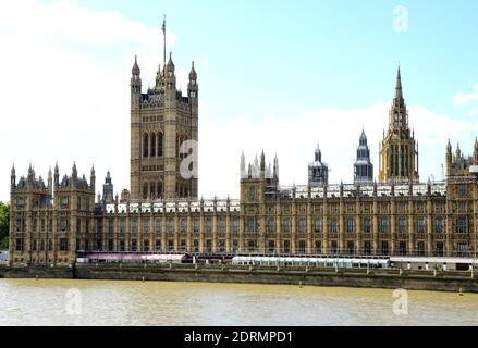
[[[12,177],[11,261],[68,264],[98,250],[468,256],[477,250],[478,185],[467,173],[446,184],[280,189],[260,171],[241,179],[238,201],[106,206],[94,203],[94,174],[89,185],[74,174],[56,179],[52,195],[30,173]]]

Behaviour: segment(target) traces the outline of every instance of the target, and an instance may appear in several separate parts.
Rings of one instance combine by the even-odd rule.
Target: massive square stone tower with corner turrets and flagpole
[[[135,60],[131,78],[133,200],[197,198],[197,174],[193,173],[197,173],[198,90],[194,62],[187,96],[176,88],[170,53],[168,63],[164,61],[163,69],[158,69],[156,86],[142,94],[140,70]]]

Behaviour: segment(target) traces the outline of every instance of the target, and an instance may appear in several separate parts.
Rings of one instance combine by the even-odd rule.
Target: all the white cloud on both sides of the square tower
[[[144,88],[152,83],[162,61],[161,38],[159,26],[74,2],[0,2],[0,200],[9,199],[13,162],[19,176],[26,174],[32,162],[44,177],[56,161],[62,174],[70,173],[76,161],[79,173],[88,175],[95,163],[97,183],[111,170],[115,190],[130,186],[131,66],[137,54]],[[170,48],[175,41],[169,33]],[[204,65],[203,76],[209,57],[194,55]],[[184,89],[189,66],[176,64],[176,70]],[[270,161],[277,152],[281,182],[306,183],[317,142],[332,170],[331,179],[351,181],[363,126],[377,173],[378,144],[388,112],[388,103],[377,102],[357,110],[311,111],[289,120],[229,114],[224,115],[228,121],[211,123],[208,120],[215,117],[200,114],[200,194],[238,196],[243,149],[249,161],[262,148]],[[471,151],[478,130],[476,123],[454,121],[421,107],[410,108],[410,123],[420,141],[425,179],[440,172],[449,137],[470,139]]]

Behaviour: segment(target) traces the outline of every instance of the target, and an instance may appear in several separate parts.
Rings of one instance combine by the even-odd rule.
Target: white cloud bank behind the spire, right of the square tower
[[[283,185],[306,184],[307,165],[314,159],[317,144],[320,144],[322,159],[328,162],[331,182],[353,181],[353,163],[356,146],[364,127],[376,177],[378,174],[379,142],[388,127],[390,105],[378,102],[366,109],[320,110],[297,115],[290,120],[267,116],[263,120],[238,116],[222,124],[203,121],[199,159],[199,185],[205,197],[215,194],[238,197],[240,156],[244,150],[246,161],[253,162],[262,148],[267,161],[273,161],[275,152],[280,160],[280,179]],[[478,123],[455,121],[422,107],[410,107],[410,126],[415,129],[420,150],[420,175],[426,181],[430,175],[441,178],[446,141],[462,140],[462,148],[478,133]]]

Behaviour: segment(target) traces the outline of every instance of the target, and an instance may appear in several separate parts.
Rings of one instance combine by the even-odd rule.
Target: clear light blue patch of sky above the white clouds
[[[478,80],[473,0],[77,3],[158,27],[167,13],[177,36],[175,60],[187,63],[192,52],[209,55],[213,69],[203,90],[221,91],[208,105],[220,119],[231,103],[259,117],[270,112],[287,117],[390,100],[399,62],[409,104],[466,117],[453,99]],[[407,33],[393,30],[397,5],[408,9]]]

